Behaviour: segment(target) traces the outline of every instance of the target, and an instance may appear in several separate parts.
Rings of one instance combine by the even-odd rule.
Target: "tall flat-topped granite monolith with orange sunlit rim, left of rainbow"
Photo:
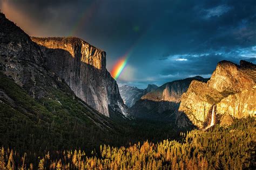
[[[76,96],[106,116],[109,106],[127,114],[117,82],[106,70],[104,51],[73,37],[31,39],[41,46],[46,66],[64,79]]]

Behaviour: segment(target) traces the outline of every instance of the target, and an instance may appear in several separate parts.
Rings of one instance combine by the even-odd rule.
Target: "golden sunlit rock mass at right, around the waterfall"
[[[255,116],[255,75],[253,63],[241,61],[240,65],[235,65],[221,61],[207,83],[191,82],[187,92],[181,96],[179,111],[199,128],[208,126],[206,119],[214,104],[220,119],[226,114],[235,118]]]

